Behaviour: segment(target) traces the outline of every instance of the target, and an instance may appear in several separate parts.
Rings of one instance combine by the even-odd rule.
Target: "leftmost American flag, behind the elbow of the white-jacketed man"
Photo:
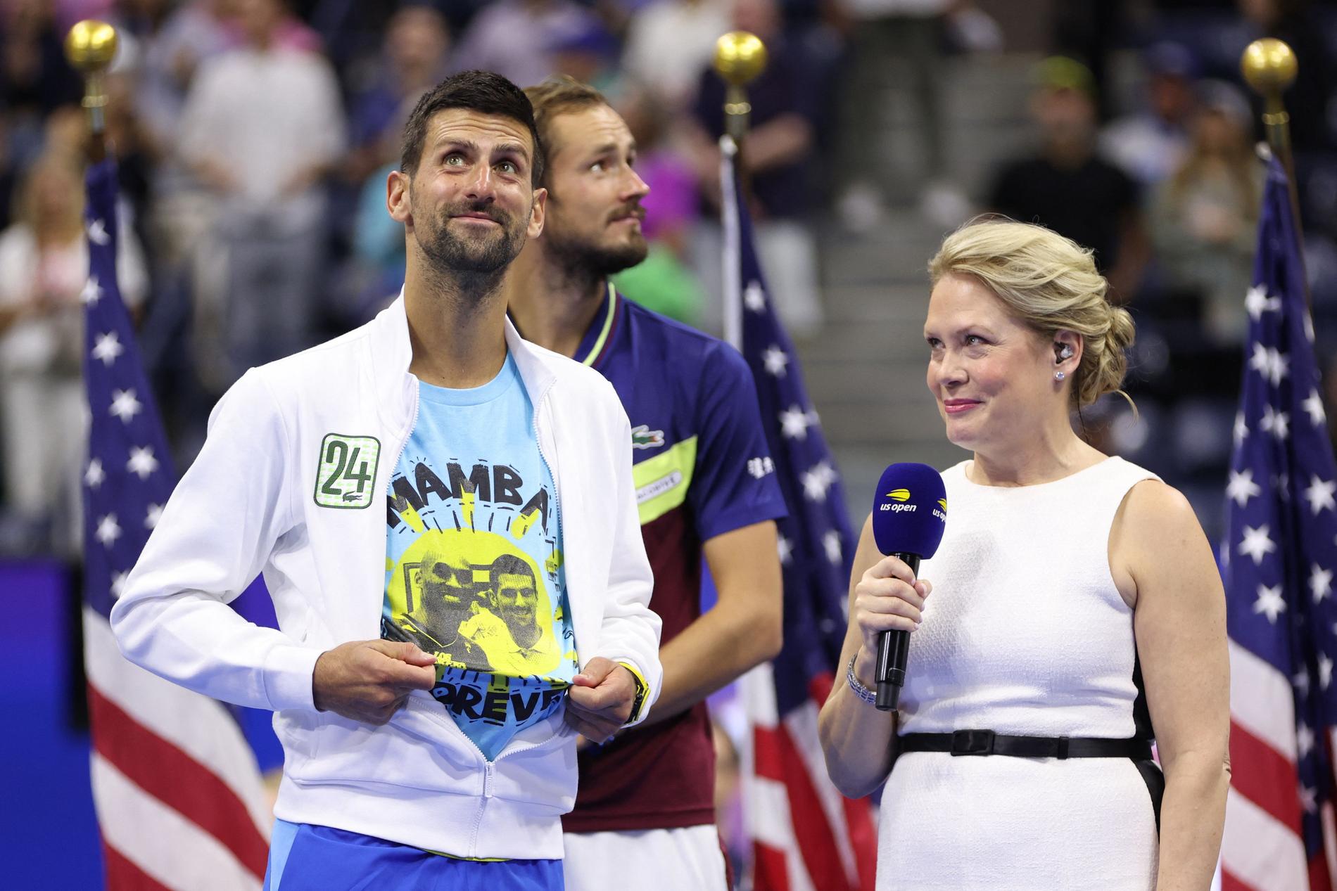
[[[111,635],[111,605],[175,476],[116,286],[115,163],[94,164],[87,184],[83,625],[107,887],[255,890],[271,818],[237,717],[126,661]]]

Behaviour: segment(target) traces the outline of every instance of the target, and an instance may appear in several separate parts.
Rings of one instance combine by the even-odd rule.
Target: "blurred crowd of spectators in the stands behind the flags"
[[[955,178],[952,68],[1040,20],[1034,148]],[[647,260],[618,286],[721,325],[715,39],[761,36],[745,146],[762,260],[798,339],[822,329],[824,239],[889,215],[944,232],[980,211],[1096,251],[1135,307],[1144,423],[1087,418],[1182,482],[1225,480],[1262,174],[1249,40],[1296,48],[1288,94],[1320,349],[1337,353],[1337,12],[1302,0],[0,0],[0,553],[78,550],[84,407],[82,79],[62,41],[114,23],[120,289],[178,462],[247,367],[373,315],[402,282],[386,172],[418,95],[453,71],[606,92],[639,144]],[[1123,88],[1120,60],[1136,79]],[[888,114],[888,92],[912,114]],[[908,123],[909,122],[909,123]],[[912,128],[917,156],[882,135]],[[893,160],[896,163],[893,163]],[[1148,433],[1150,431],[1150,433]],[[1167,466],[1166,446],[1170,446]],[[1205,482],[1206,485],[1206,482]],[[1210,518],[1209,518],[1210,529]]]

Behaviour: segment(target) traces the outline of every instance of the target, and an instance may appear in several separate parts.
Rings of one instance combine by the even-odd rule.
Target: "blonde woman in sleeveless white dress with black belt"
[[[1119,391],[1132,319],[1039,226],[967,224],[929,277],[928,387],[973,458],[943,474],[920,578],[865,524],[821,715],[836,785],[886,783],[877,888],[1207,888],[1229,781],[1211,549],[1183,496],[1071,423]],[[868,701],[886,629],[913,632],[898,712]]]

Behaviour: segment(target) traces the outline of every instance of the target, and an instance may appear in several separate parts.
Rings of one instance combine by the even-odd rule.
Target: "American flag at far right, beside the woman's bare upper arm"
[[[1222,887],[1332,888],[1337,464],[1286,174],[1269,160],[1222,546],[1230,797]]]

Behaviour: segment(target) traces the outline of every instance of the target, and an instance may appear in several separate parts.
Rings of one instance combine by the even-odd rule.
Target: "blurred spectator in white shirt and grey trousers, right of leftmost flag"
[[[282,0],[239,0],[245,44],[203,64],[180,115],[179,151],[213,192],[226,251],[221,305],[197,306],[206,385],[309,346],[326,259],[322,179],[344,150],[338,81],[289,45]]]

